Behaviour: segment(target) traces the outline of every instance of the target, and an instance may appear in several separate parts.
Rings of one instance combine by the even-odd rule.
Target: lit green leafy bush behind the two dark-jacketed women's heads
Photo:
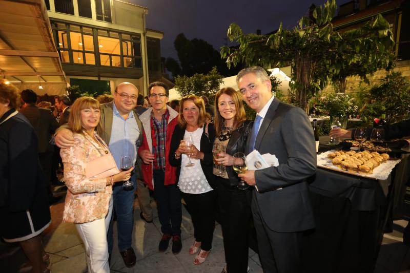
[[[207,96],[209,102],[213,104],[215,94],[219,90],[222,83],[222,76],[219,74],[216,67],[204,75],[194,74],[192,77],[177,76],[175,78],[175,89],[185,97],[188,95]]]

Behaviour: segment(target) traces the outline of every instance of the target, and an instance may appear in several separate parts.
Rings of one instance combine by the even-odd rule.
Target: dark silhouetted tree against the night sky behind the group
[[[224,61],[220,58],[218,51],[212,45],[202,39],[194,38],[189,40],[183,33],[176,36],[174,47],[178,52],[178,61],[174,58],[167,58],[166,68],[171,71],[172,76],[188,76],[194,74],[206,74],[213,67],[224,76],[231,76],[238,73],[238,69],[228,69]]]

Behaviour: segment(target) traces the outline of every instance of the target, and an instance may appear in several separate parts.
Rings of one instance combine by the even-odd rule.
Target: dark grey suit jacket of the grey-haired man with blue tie
[[[260,125],[255,149],[279,160],[279,166],[255,172],[259,192],[254,191],[254,198],[263,221],[275,232],[315,227],[306,183],[316,172],[315,138],[308,116],[274,98]]]

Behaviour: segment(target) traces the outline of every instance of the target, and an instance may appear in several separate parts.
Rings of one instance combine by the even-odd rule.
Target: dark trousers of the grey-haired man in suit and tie
[[[252,215],[263,272],[302,272],[301,243],[303,233],[280,233],[271,230],[259,213],[259,205],[255,196],[252,199]]]

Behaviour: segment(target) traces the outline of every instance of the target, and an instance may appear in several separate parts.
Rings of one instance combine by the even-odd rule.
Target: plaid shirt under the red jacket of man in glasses
[[[152,150],[155,155],[154,170],[165,169],[165,141],[167,139],[167,126],[170,112],[167,111],[162,115],[161,120],[154,117],[154,111],[151,112],[151,139]]]

